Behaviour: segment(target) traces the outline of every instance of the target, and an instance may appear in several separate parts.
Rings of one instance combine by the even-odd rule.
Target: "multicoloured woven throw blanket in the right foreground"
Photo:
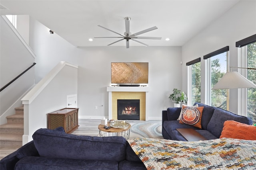
[[[148,170],[256,170],[256,141],[135,138],[128,142]]]

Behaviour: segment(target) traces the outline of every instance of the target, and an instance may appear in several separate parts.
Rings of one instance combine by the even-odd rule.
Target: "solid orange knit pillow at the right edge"
[[[233,120],[224,122],[220,138],[256,140],[256,126],[247,125]]]

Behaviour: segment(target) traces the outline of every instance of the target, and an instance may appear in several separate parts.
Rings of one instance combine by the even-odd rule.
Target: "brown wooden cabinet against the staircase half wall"
[[[64,108],[47,114],[48,129],[63,127],[66,133],[78,128],[78,108]]]

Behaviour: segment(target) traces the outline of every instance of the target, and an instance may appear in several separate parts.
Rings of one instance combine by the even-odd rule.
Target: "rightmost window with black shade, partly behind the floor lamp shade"
[[[240,64],[243,68],[256,68],[256,34],[240,41],[236,42],[236,47],[240,51]],[[244,70],[246,70],[244,72]],[[256,84],[256,70],[253,69],[241,69],[243,76],[248,78]],[[244,91],[243,91],[244,90]],[[252,119],[253,123],[256,123],[256,88],[247,88],[242,90],[242,99],[246,102],[243,103],[245,107],[242,107],[242,113],[246,112],[245,116]],[[243,101],[241,101],[243,102]]]

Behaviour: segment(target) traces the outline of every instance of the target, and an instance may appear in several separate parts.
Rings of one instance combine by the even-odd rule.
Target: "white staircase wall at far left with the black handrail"
[[[0,87],[2,88],[31,66],[35,59],[26,45],[18,38],[15,30],[11,29],[12,25],[8,25],[2,16],[0,20]],[[7,21],[9,22],[9,20]],[[22,106],[20,101],[18,101],[17,106],[12,107],[12,104],[33,84],[34,67],[2,90],[0,99],[1,124],[6,123],[6,116],[15,113],[14,107]]]

